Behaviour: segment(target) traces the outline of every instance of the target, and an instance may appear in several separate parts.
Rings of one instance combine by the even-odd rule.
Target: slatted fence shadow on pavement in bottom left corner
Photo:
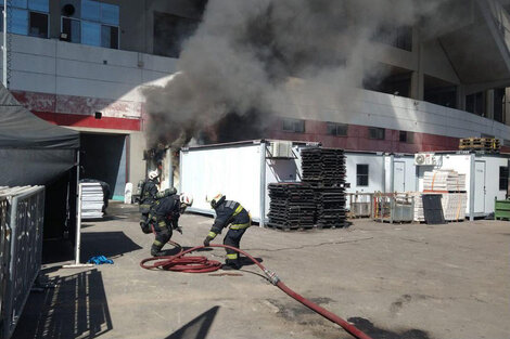
[[[97,338],[113,329],[101,272],[58,276],[51,283],[54,288],[29,295],[12,339]]]

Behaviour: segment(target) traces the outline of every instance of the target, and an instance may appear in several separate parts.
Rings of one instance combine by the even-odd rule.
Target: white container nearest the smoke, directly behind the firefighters
[[[221,193],[246,208],[254,221],[260,222],[260,222],[264,225],[269,212],[268,184],[301,181],[299,147],[306,145],[290,143],[289,153],[282,152],[285,145],[275,147],[275,143],[279,142],[247,141],[183,148],[179,192],[193,196],[189,210],[214,214],[206,196]],[[279,149],[276,156],[275,149]]]

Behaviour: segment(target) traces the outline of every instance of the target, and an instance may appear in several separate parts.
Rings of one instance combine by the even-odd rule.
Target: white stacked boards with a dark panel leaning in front
[[[466,174],[454,170],[435,170],[425,172],[423,177],[423,193],[417,193],[415,198],[415,220],[424,221],[422,194],[441,194],[443,214],[446,221],[462,221],[466,219],[468,195],[466,193]]]

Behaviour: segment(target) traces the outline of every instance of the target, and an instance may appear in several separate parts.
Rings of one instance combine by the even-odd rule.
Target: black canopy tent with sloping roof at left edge
[[[0,84],[0,186],[44,185],[44,237],[73,232],[79,133],[51,125]]]

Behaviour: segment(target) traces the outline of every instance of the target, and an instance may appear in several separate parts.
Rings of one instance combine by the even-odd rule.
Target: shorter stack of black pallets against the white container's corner
[[[269,184],[269,223],[279,230],[311,229],[315,224],[314,190],[303,183]]]

